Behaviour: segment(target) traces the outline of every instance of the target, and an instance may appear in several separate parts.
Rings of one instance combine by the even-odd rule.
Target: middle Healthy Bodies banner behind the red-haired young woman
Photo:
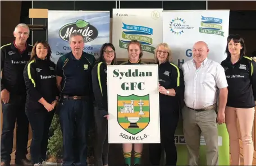
[[[117,58],[128,58],[127,44],[138,40],[143,59],[154,59],[154,49],[163,41],[163,9],[113,9],[112,42]]]

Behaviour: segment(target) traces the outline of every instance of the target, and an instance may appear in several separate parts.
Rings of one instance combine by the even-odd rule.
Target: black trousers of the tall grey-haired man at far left
[[[1,159],[11,161],[13,130],[17,119],[15,160],[25,159],[28,154],[29,121],[25,114],[26,95],[10,94],[9,103],[3,104]]]

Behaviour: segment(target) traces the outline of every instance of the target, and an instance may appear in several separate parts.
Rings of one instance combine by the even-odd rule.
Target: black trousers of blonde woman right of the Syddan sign
[[[161,111],[160,111],[161,112]],[[166,152],[166,165],[176,165],[177,150],[174,141],[174,135],[179,122],[179,112],[170,112],[160,114],[160,132],[161,144],[149,144],[149,158],[152,165],[159,165],[161,160],[162,147]]]

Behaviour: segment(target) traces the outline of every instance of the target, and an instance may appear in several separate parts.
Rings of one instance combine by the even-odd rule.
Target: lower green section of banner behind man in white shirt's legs
[[[180,119],[175,132],[177,147],[177,165],[188,165],[188,149],[183,141],[183,125]],[[218,125],[218,136],[222,139],[222,145],[218,146],[218,165],[230,165],[229,138],[226,125]],[[199,165],[207,165],[206,146],[200,145]]]

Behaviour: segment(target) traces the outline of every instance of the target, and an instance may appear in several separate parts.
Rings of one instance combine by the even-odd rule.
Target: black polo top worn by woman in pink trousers
[[[221,65],[225,70],[228,84],[227,106],[255,107],[256,62],[252,58],[241,56],[239,61],[232,64],[228,56]]]

